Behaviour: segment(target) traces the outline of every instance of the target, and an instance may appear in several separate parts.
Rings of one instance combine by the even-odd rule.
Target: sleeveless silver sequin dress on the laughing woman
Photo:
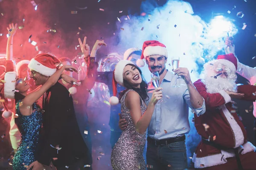
[[[143,149],[146,142],[146,132],[137,132],[131,119],[131,113],[125,106],[125,96],[132,90],[128,90],[121,99],[121,116],[127,121],[127,128],[122,132],[111,153],[111,164],[114,170],[146,170],[143,158]],[[141,113],[146,110],[142,102]]]

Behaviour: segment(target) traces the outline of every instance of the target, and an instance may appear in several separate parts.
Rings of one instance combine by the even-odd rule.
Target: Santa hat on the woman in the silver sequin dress
[[[116,64],[116,68],[113,71],[113,79],[112,79],[112,86],[113,86],[113,96],[111,96],[109,103],[111,105],[117,105],[119,103],[119,99],[116,97],[117,94],[117,83],[119,85],[124,86],[124,77],[123,77],[123,71],[126,65],[132,64],[134,65],[133,62],[128,61],[128,60],[120,60]]]

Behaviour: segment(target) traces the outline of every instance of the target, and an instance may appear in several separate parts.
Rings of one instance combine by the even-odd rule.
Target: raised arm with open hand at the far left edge
[[[15,32],[17,31],[17,24],[9,24],[9,27],[7,27],[8,30],[8,40],[7,40],[7,46],[6,46],[6,72],[9,71],[15,71],[13,67],[13,37],[15,35]]]

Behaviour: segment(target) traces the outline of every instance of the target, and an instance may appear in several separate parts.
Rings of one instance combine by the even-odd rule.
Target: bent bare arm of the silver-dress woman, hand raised
[[[144,105],[144,102],[140,101],[139,94],[135,91],[129,91],[125,97],[125,105],[130,109],[131,119],[137,129],[137,132],[140,134],[145,133],[147,130],[154,112],[154,106],[163,96],[161,89],[162,88],[156,88],[154,90],[151,101],[148,103],[148,107],[143,115],[141,113],[140,105]]]

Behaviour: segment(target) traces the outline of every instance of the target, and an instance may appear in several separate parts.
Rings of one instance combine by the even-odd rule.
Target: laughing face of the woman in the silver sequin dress
[[[140,88],[142,77],[140,71],[133,65],[126,65],[123,71],[124,79],[134,88]]]

